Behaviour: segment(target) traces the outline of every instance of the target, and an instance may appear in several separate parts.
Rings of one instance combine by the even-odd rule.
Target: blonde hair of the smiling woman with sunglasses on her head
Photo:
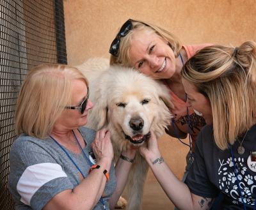
[[[156,33],[158,36],[166,40],[166,44],[168,43],[168,45],[170,45],[170,48],[173,50],[175,54],[175,57],[179,55],[182,45],[180,43],[180,40],[174,34],[148,22],[142,22],[140,20],[131,20],[131,22],[132,29],[125,36],[120,38],[120,45],[117,56],[113,56],[112,54],[110,56],[111,65],[120,64],[122,66],[132,67],[130,64],[130,47],[134,31],[148,31]]]

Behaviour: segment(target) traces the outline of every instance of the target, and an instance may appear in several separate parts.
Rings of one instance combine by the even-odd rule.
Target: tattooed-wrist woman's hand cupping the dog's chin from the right
[[[150,139],[148,139],[147,144],[143,144],[139,148],[140,154],[146,159],[146,160],[154,160],[156,157],[161,156],[159,149],[158,149],[158,144],[157,144],[157,139],[156,135],[153,131],[151,131],[151,136]]]

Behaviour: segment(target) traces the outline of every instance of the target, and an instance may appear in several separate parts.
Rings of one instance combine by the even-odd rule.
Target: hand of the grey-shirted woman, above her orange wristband
[[[92,149],[97,161],[102,158],[113,160],[114,151],[110,140],[110,132],[106,128],[96,132]]]

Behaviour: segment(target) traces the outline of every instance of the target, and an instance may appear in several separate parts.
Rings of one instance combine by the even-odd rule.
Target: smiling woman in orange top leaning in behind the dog
[[[170,110],[173,119],[166,132],[178,139],[185,139],[189,133],[189,153],[183,180],[193,162],[195,140],[205,120],[187,107],[180,71],[191,56],[209,45],[182,45],[174,34],[159,26],[129,19],[120,28],[109,49],[110,64],[133,67],[153,79],[161,80],[170,89],[175,107]]]

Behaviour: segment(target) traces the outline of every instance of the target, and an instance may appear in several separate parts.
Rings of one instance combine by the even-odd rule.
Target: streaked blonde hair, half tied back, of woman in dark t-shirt
[[[216,145],[227,149],[256,117],[256,43],[205,47],[182,68],[182,77],[211,103]]]

